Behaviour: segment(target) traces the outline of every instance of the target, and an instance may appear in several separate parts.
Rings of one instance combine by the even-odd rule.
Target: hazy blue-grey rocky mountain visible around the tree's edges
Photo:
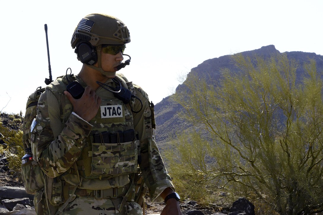
[[[318,72],[323,71],[323,56],[315,53],[307,52],[285,52],[289,59],[295,59],[300,64],[300,67],[297,69],[297,76],[299,77],[301,73],[304,73],[303,65],[308,59],[315,59],[317,64]],[[255,55],[268,58],[274,54],[281,54],[274,45],[263,46],[260,49],[241,52],[240,54],[253,58]],[[199,64],[197,67],[191,69],[188,76],[193,73],[197,73],[200,78],[211,78],[213,80],[219,80],[220,70],[223,68],[228,68],[232,72],[238,70],[232,61],[232,55],[224,55],[218,58],[213,58],[204,61],[202,64]],[[180,84],[176,88],[178,92],[183,84]],[[174,103],[170,96],[164,98],[161,102],[155,104],[155,118],[156,118],[156,140],[158,144],[163,146],[165,142],[168,141],[169,137],[172,137],[175,132],[179,132],[187,128],[187,124],[179,118],[182,108],[179,104]],[[162,148],[162,147],[160,147]]]

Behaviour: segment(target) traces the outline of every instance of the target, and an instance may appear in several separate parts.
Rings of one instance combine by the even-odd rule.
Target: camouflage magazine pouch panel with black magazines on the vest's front
[[[117,134],[117,136],[114,134]],[[103,138],[103,136],[110,136],[110,138]],[[108,140],[104,141],[104,139]],[[116,140],[117,142],[114,143],[113,141]],[[120,142],[120,140],[127,142]],[[88,179],[111,178],[116,175],[136,172],[139,154],[138,145],[139,141],[136,139],[133,129],[90,135],[83,148],[82,159],[76,161],[78,172]],[[73,172],[75,174],[75,171]]]

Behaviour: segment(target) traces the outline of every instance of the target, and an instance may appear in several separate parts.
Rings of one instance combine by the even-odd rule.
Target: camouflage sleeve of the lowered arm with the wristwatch
[[[161,202],[163,199],[160,194],[164,189],[170,187],[175,191],[171,177],[168,175],[164,162],[159,153],[155,142],[151,123],[151,109],[147,94],[138,86],[137,96],[143,103],[142,110],[134,113],[134,128],[139,132],[141,164],[140,169],[144,180],[149,188],[151,201]],[[135,110],[141,107],[140,102],[136,102]]]

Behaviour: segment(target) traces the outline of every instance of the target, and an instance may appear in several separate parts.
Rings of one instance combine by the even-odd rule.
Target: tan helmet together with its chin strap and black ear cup
[[[122,45],[130,43],[127,26],[117,17],[106,14],[90,14],[81,19],[74,30],[71,46],[82,63],[100,71],[104,75],[115,75],[104,72],[101,68],[101,45]],[[98,67],[93,66],[98,62]]]

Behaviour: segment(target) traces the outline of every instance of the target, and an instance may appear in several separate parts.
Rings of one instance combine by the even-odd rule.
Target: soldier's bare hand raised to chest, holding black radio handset
[[[64,91],[64,94],[73,105],[73,111],[78,114],[82,119],[89,122],[97,114],[101,98],[89,86],[84,90],[80,99],[74,99],[73,96]]]

